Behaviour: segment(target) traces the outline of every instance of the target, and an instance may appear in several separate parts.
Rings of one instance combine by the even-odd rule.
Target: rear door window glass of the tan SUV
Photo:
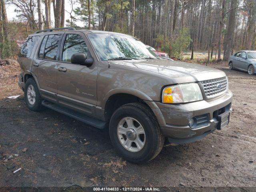
[[[39,58],[56,60],[60,38],[61,34],[45,36],[40,47]]]

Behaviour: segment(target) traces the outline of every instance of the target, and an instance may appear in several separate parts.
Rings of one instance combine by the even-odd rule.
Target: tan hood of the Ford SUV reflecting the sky
[[[226,76],[224,72],[215,68],[165,59],[119,60],[109,62],[111,64],[138,68],[176,78],[177,83],[198,82]]]

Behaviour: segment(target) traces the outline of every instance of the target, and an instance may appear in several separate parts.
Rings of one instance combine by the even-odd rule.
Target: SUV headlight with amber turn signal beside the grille
[[[168,86],[162,94],[163,103],[187,103],[202,99],[202,92],[197,83]]]

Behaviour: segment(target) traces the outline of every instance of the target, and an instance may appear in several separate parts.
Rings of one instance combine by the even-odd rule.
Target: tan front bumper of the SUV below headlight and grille
[[[164,117],[165,124],[160,124],[164,136],[169,142],[180,144],[200,140],[219,128],[218,116],[232,111],[231,102],[232,92],[228,90],[223,96],[211,101],[202,100],[186,104],[155,103]],[[205,122],[199,127],[190,128],[189,120],[196,116],[203,117]]]

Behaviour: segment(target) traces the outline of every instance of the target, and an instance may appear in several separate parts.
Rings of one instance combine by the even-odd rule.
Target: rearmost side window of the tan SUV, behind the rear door
[[[30,57],[38,39],[39,39],[39,36],[28,37],[26,42],[22,45],[18,56],[19,57]]]

